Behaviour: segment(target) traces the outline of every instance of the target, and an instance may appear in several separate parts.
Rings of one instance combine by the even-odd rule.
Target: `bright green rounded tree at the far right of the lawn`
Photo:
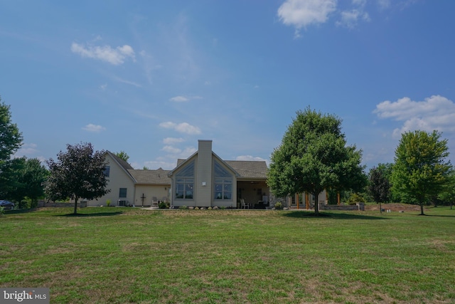
[[[407,202],[420,205],[424,215],[424,204],[437,196],[449,181],[452,166],[447,140],[441,133],[417,130],[402,134],[395,150],[395,165],[392,172],[392,187],[402,192]]]

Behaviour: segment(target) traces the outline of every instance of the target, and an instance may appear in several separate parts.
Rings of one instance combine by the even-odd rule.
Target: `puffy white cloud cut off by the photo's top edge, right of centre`
[[[286,0],[279,6],[278,16],[287,26],[299,30],[311,24],[324,23],[336,11],[337,0]]]

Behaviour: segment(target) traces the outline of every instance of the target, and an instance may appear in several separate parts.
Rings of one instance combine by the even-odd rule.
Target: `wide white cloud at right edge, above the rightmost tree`
[[[455,132],[455,103],[441,95],[433,95],[423,101],[414,101],[408,97],[395,102],[385,100],[376,105],[373,112],[380,118],[403,122],[402,127],[393,131],[394,138],[400,138],[403,132],[414,130]]]

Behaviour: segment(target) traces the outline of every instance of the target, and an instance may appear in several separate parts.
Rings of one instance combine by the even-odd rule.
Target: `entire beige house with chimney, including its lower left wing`
[[[257,161],[223,160],[212,151],[211,140],[199,140],[198,151],[178,159],[172,170],[140,170],[106,152],[105,175],[110,192],[87,206],[151,206],[167,201],[171,206],[269,206],[267,164]]]

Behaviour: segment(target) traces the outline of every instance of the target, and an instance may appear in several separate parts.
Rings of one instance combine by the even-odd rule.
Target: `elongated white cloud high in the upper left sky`
[[[71,44],[71,51],[82,57],[106,61],[113,65],[124,63],[126,58],[132,58],[135,61],[134,50],[128,45],[111,48],[110,46],[82,46],[73,42]]]

